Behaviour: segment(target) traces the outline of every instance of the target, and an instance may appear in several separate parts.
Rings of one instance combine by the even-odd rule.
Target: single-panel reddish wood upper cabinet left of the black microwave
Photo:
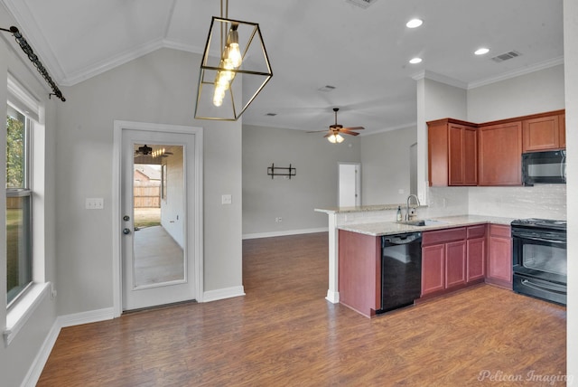
[[[522,122],[478,128],[478,184],[522,184]]]

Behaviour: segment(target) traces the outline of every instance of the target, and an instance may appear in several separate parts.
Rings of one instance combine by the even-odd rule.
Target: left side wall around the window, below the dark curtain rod
[[[14,20],[8,17],[3,5],[0,5],[0,26],[9,27],[15,25]],[[61,106],[59,99],[49,99],[49,88],[40,76],[36,76],[36,70],[30,69],[29,61],[20,47],[14,42],[10,33],[0,35],[0,100],[7,97],[6,80],[10,72],[45,108],[44,117],[44,146],[45,159],[38,167],[44,170],[45,189],[42,195],[44,205],[44,217],[38,218],[43,222],[44,235],[40,238],[44,252],[45,267],[44,277],[46,281],[55,281],[56,275],[56,248],[55,248],[55,183],[54,183],[54,149],[56,128],[56,109]],[[41,80],[39,80],[40,78]],[[4,107],[5,102],[3,102]],[[5,108],[4,111],[5,117]],[[3,118],[5,119],[5,118]],[[42,120],[42,118],[41,118]],[[5,144],[5,130],[0,131],[0,143]],[[4,180],[3,180],[4,179]],[[5,146],[0,146],[0,180],[5,181]],[[5,245],[5,195],[0,198],[0,299],[6,299],[6,245]],[[3,304],[5,305],[5,304]],[[6,309],[0,307],[0,323],[5,326]],[[50,297],[43,298],[40,305],[34,309],[32,316],[27,320],[22,330],[14,337],[7,347],[0,344],[0,375],[2,385],[17,386],[26,378],[26,374],[35,362],[40,348],[47,339],[51,327],[56,321],[56,301]]]

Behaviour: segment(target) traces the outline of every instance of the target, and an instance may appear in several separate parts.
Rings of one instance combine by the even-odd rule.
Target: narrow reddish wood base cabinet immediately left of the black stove
[[[512,238],[509,226],[489,225],[488,275],[486,282],[512,288]]]

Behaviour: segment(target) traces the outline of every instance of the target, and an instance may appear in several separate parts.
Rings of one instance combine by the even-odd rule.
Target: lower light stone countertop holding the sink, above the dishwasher
[[[341,225],[338,226],[338,229],[379,237],[382,235],[393,235],[404,232],[443,230],[451,229],[453,227],[471,226],[484,223],[509,226],[510,222],[514,221],[514,218],[501,218],[496,216],[480,215],[459,215],[429,218],[428,220],[436,221],[436,223],[426,226],[411,226],[400,222],[359,223]]]

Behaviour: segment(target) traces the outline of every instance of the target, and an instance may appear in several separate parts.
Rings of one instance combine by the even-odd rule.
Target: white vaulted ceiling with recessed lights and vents
[[[219,0],[1,1],[64,86],[162,47],[200,53],[211,16],[220,14]],[[472,88],[562,63],[562,7],[562,0],[376,0],[368,9],[346,0],[230,0],[231,19],[260,25],[274,73],[243,123],[320,130],[338,107],[339,123],[365,134],[415,125],[413,77],[424,71]],[[407,29],[413,17],[424,24]],[[474,55],[480,46],[489,54]],[[522,55],[490,60],[510,51]],[[424,61],[409,64],[415,56]],[[336,89],[320,91],[325,85]]]

